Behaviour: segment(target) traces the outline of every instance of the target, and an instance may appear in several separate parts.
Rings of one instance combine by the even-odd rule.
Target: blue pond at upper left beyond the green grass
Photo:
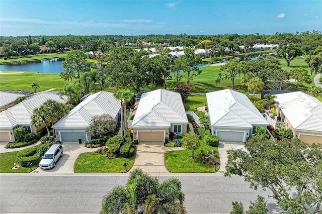
[[[62,67],[63,61],[64,58],[13,62],[0,65],[0,70],[18,70],[35,73],[60,73],[64,71],[64,68]],[[90,65],[91,67],[95,67],[96,64],[90,63]]]

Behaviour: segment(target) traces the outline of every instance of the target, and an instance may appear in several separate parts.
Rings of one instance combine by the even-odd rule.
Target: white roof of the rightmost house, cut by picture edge
[[[275,96],[293,129],[322,132],[322,103],[318,99],[302,91]]]

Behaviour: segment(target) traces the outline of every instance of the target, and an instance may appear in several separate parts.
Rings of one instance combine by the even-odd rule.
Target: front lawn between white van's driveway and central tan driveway
[[[136,147],[133,157],[107,159],[95,152],[86,152],[78,155],[74,163],[74,173],[122,173],[125,172],[124,163],[127,163],[127,170],[134,164]]]

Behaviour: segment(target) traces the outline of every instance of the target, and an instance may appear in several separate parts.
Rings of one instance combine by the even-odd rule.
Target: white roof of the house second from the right
[[[206,93],[211,126],[253,128],[269,123],[243,93],[225,89]]]

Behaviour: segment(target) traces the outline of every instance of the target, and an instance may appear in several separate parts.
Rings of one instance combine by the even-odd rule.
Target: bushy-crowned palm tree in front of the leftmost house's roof
[[[50,137],[49,126],[51,121],[50,109],[46,105],[40,105],[31,116],[31,124],[36,127],[46,126],[48,137]]]

